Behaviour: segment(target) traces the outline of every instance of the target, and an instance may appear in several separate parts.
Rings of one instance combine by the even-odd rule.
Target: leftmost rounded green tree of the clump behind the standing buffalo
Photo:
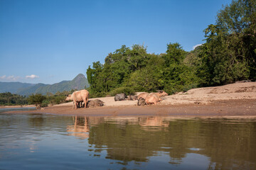
[[[105,95],[119,87],[125,86],[130,74],[146,66],[148,54],[146,47],[133,45],[132,49],[122,45],[105,58],[105,64],[94,62],[87,69],[87,79],[91,84],[90,94]]]

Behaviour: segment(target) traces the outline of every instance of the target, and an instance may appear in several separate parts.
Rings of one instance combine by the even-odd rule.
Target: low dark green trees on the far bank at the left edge
[[[0,94],[0,105],[25,105],[27,98],[18,94],[11,94],[10,92]]]

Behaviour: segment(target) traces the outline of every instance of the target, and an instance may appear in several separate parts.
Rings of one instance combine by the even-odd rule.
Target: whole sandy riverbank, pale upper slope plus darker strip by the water
[[[93,99],[95,98],[89,100]],[[240,82],[225,86],[191,89],[186,92],[164,96],[163,101],[153,106],[136,106],[137,101],[114,101],[114,97],[97,99],[102,100],[104,106],[73,110],[73,102],[70,102],[37,111],[21,111],[21,113],[256,118],[256,82]]]

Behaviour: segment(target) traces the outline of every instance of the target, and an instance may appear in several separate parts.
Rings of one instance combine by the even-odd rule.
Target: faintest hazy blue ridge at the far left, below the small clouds
[[[16,94],[18,89],[26,89],[31,86],[35,86],[35,84],[26,84],[20,82],[0,82],[0,93],[11,92],[12,94]]]

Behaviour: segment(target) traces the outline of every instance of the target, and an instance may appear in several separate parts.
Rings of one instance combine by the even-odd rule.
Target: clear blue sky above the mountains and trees
[[[203,43],[231,0],[0,0],[0,81],[54,84],[127,45],[166,52]]]

